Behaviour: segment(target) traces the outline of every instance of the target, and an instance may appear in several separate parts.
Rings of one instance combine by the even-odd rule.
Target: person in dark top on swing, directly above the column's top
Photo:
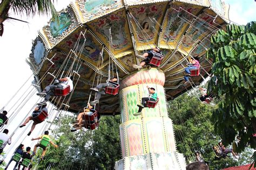
[[[152,47],[151,51],[145,52],[143,55],[136,55],[137,58],[143,59],[139,65],[133,64],[134,69],[142,69],[144,65],[150,65],[150,60],[152,57],[156,56],[157,58],[163,58],[163,54],[159,47]]]

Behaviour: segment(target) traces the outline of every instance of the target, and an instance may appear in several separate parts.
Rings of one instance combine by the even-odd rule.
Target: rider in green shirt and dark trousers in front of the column
[[[134,113],[133,115],[140,115],[142,114],[142,109],[144,107],[146,107],[146,102],[148,100],[151,100],[151,101],[157,101],[157,93],[156,93],[156,90],[153,88],[153,87],[149,87],[147,86],[147,90],[149,90],[149,97],[143,97],[142,98],[142,103],[141,104],[138,104],[137,106],[139,107],[139,110],[138,110],[138,113]]]

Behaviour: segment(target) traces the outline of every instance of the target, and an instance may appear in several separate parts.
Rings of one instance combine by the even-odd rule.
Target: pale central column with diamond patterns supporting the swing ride
[[[136,72],[122,81],[119,91],[122,124],[119,127],[123,159],[116,162],[116,169],[185,169],[183,154],[176,152],[164,83],[165,74],[157,69]],[[146,86],[156,89],[158,104],[134,116],[138,112],[137,104],[149,96]]]

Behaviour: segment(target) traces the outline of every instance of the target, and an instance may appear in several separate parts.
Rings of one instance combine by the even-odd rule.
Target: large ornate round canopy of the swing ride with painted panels
[[[117,70],[122,80],[138,71],[132,67],[140,62],[135,55],[159,46],[164,59],[158,69],[165,73],[167,99],[173,99],[191,87],[182,83],[188,58],[200,58],[200,76],[192,77],[193,83],[200,83],[206,72],[211,72],[212,62],[205,53],[211,35],[227,24],[228,10],[220,0],[76,0],[59,12],[59,23],[51,20],[39,31],[27,62],[44,89],[53,80],[49,74],[44,75],[55,74],[70,50],[77,47],[62,72],[65,75],[71,66],[72,70],[79,67],[80,78],[69,101],[69,110],[78,112],[86,106],[89,89],[97,85],[97,80],[106,81],[109,63],[113,63],[111,73],[116,75]],[[79,37],[81,32],[84,36]],[[112,114],[119,109],[118,95],[100,99],[100,113]]]

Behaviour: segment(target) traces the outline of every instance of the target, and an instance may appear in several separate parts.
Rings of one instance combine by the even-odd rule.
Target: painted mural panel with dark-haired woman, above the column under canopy
[[[133,29],[137,32],[137,36],[134,36],[140,43],[147,43],[156,38],[159,26],[156,22],[153,22],[153,19],[161,23],[160,20],[163,17],[165,7],[166,3],[158,3],[131,8],[131,21]]]

